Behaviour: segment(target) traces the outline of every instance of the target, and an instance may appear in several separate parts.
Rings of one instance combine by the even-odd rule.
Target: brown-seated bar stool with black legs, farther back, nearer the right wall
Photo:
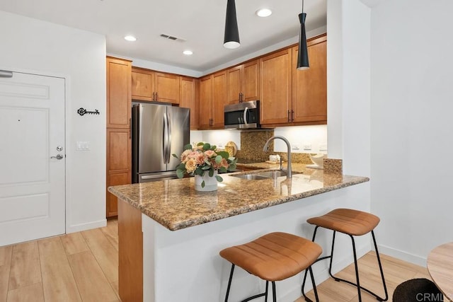
[[[360,289],[367,291],[367,293],[369,293],[372,296],[374,296],[375,298],[377,298],[378,301],[387,301],[387,299],[389,298],[389,294],[387,293],[387,287],[386,287],[385,279],[384,279],[384,272],[382,271],[381,259],[379,258],[379,252],[377,250],[376,238],[374,238],[374,228],[376,228],[379,221],[380,221],[379,217],[377,217],[373,214],[369,214],[364,211],[357,211],[357,210],[353,210],[353,209],[334,209],[333,211],[330,211],[323,216],[313,217],[306,221],[306,222],[311,223],[316,226],[316,228],[314,228],[313,241],[316,238],[316,231],[318,230],[318,228],[320,226],[322,228],[328,228],[333,231],[331,255],[326,256],[326,257],[321,257],[318,260],[316,260],[316,262],[318,262],[319,260],[331,258],[331,263],[328,267],[328,274],[333,279],[335,279],[335,281],[343,281],[343,282],[346,282],[353,286],[356,286],[357,292],[359,294],[359,301],[362,301]],[[354,254],[354,265],[355,265],[355,278],[356,278],[357,283],[353,283],[353,282],[345,280],[345,279],[340,279],[340,278],[334,277],[332,275],[331,270],[332,270],[332,260],[333,260],[333,247],[335,244],[336,232],[344,233],[344,234],[350,236],[350,238],[352,240],[352,252]],[[353,236],[362,236],[369,232],[371,232],[371,234],[372,234],[374,249],[376,250],[377,262],[379,264],[379,270],[381,271],[381,278],[382,278],[382,284],[384,286],[385,298],[381,298],[380,296],[377,296],[377,294],[374,294],[372,291],[369,291],[369,289],[365,289],[365,287],[360,286],[359,271],[358,271],[358,267],[357,267],[357,255],[355,252],[355,241],[354,241]],[[304,275],[304,281],[302,282],[302,294],[306,298],[306,296],[304,294],[305,281],[306,281],[306,273]]]

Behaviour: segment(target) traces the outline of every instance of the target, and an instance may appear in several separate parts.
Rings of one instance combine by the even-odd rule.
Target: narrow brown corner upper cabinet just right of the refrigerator
[[[200,81],[187,76],[180,77],[180,104],[179,107],[190,108],[190,129],[198,129],[200,122]]]

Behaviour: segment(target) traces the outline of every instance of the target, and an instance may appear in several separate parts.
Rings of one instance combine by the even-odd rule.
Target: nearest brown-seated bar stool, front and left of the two
[[[280,232],[268,233],[249,243],[221,250],[220,256],[231,262],[225,302],[228,301],[235,265],[266,281],[264,293],[246,298],[242,302],[263,296],[265,301],[268,301],[269,281],[272,282],[273,301],[276,302],[275,281],[292,277],[304,269],[308,269],[310,272],[316,301],[319,301],[311,265],[321,255],[321,252],[321,246],[310,240]]]

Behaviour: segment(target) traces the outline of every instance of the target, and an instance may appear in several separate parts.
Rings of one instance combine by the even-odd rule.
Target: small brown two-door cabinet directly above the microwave
[[[226,70],[227,104],[259,100],[259,62],[253,60]]]

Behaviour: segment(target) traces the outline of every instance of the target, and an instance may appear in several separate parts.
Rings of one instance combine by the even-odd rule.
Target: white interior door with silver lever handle
[[[0,245],[65,233],[64,79],[0,74]]]

